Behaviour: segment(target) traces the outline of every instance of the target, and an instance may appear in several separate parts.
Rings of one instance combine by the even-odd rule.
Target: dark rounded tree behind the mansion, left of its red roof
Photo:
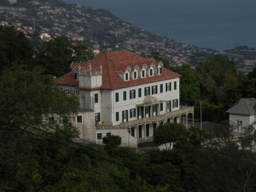
[[[47,74],[60,77],[70,71],[74,46],[66,36],[56,37],[38,47],[38,61]]]

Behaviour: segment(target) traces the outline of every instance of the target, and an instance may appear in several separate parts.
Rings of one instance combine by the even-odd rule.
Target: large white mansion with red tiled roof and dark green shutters
[[[57,84],[79,97],[74,124],[82,139],[102,143],[102,137],[114,134],[122,137],[122,146],[137,147],[152,141],[158,124],[181,122],[182,116],[185,124],[189,113],[194,117],[193,107],[179,105],[180,75],[153,58],[121,50],[70,68]]]

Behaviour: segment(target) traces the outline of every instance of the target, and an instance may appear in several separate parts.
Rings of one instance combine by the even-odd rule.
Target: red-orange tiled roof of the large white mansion
[[[148,67],[154,62],[157,66],[158,62],[153,58],[142,58],[135,53],[128,50],[106,52],[100,56],[94,58],[91,61],[92,70],[100,70],[100,65],[102,66],[102,86],[99,88],[83,88],[84,90],[95,90],[95,89],[118,89],[128,86],[135,86],[139,84],[145,84],[149,82],[157,82],[160,80],[172,79],[180,77],[180,74],[172,72],[166,68],[162,68],[162,74],[154,76],[146,76],[145,78],[132,79],[124,81],[116,72],[124,72],[129,66],[132,70],[136,65],[141,69],[143,64]],[[70,68],[81,67],[81,70],[88,70],[89,62],[80,62],[70,65]],[[72,79],[73,78],[73,79]],[[74,72],[69,72],[64,76],[58,78],[57,83],[60,85],[73,85],[78,86],[78,81],[75,80]]]

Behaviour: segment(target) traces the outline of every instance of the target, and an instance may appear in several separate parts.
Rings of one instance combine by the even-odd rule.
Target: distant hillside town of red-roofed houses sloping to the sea
[[[41,41],[65,35],[73,44],[92,47],[95,55],[104,51],[128,49],[147,57],[151,51],[160,52],[172,66],[191,63],[193,67],[204,58],[224,54],[234,60],[238,70],[250,72],[256,64],[256,50],[225,50],[198,48],[167,37],[157,36],[106,10],[82,5],[56,4],[47,0],[0,3],[0,25],[12,25],[31,38],[38,34]]]

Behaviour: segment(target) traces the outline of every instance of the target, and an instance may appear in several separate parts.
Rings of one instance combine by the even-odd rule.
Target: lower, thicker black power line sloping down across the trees
[[[69,146],[69,145],[67,145],[67,144],[60,143],[60,142],[58,142],[58,141],[56,141],[56,140],[52,140],[52,139],[50,139],[50,138],[46,138],[46,137],[44,137],[44,136],[42,136],[42,135],[39,135],[39,134],[30,132],[30,131],[28,131],[28,130],[24,130],[24,129],[22,129],[22,128],[18,128],[18,127],[16,127],[16,126],[7,124],[7,123],[2,122],[2,121],[0,121],[0,123],[5,124],[6,126],[10,126],[10,127],[16,128],[16,129],[18,129],[18,130],[24,131],[24,132],[28,132],[28,133],[30,133],[30,134],[36,135],[36,136],[38,136],[38,137],[44,138],[44,139],[46,139],[46,140],[49,140],[49,141],[51,141],[51,142],[55,142],[55,143],[60,144],[60,145],[63,145],[63,146],[66,146],[66,147],[68,147],[68,148],[72,148],[72,149],[74,149],[74,150],[76,150],[76,151],[78,151],[78,152],[85,153],[85,154],[94,156],[94,157],[96,157],[96,158],[100,158],[100,159],[102,159],[102,160],[106,160],[106,161],[108,161],[108,162],[117,164],[117,165],[119,165],[119,166],[126,167],[126,168],[128,168],[128,169],[130,169],[130,170],[133,170],[133,171],[136,171],[136,172],[140,172],[140,173],[142,173],[142,174],[144,174],[144,175],[147,175],[147,176],[150,176],[150,177],[152,177],[152,178],[155,178],[155,179],[158,179],[158,180],[162,181],[161,179],[159,179],[159,178],[157,178],[157,177],[155,177],[155,176],[153,176],[153,175],[151,175],[151,174],[142,172],[142,171],[137,170],[137,169],[135,169],[135,168],[132,168],[132,167],[130,167],[130,166],[126,166],[126,165],[124,165],[124,164],[115,162],[115,161],[113,161],[113,160],[109,160],[109,159],[107,159],[107,158],[100,157],[100,156],[97,156],[97,155],[95,155],[95,154],[91,154],[91,153],[89,153],[89,152],[82,151],[82,150],[80,150],[80,149],[78,149],[78,148],[74,148],[74,147]],[[27,126],[28,126],[28,125],[27,125]],[[63,140],[66,140],[66,139],[63,139]],[[68,141],[68,140],[66,140],[66,141]],[[170,182],[170,184],[173,184],[173,185],[175,185],[175,186],[182,187],[181,185],[175,184],[175,183],[172,183],[172,182]]]

